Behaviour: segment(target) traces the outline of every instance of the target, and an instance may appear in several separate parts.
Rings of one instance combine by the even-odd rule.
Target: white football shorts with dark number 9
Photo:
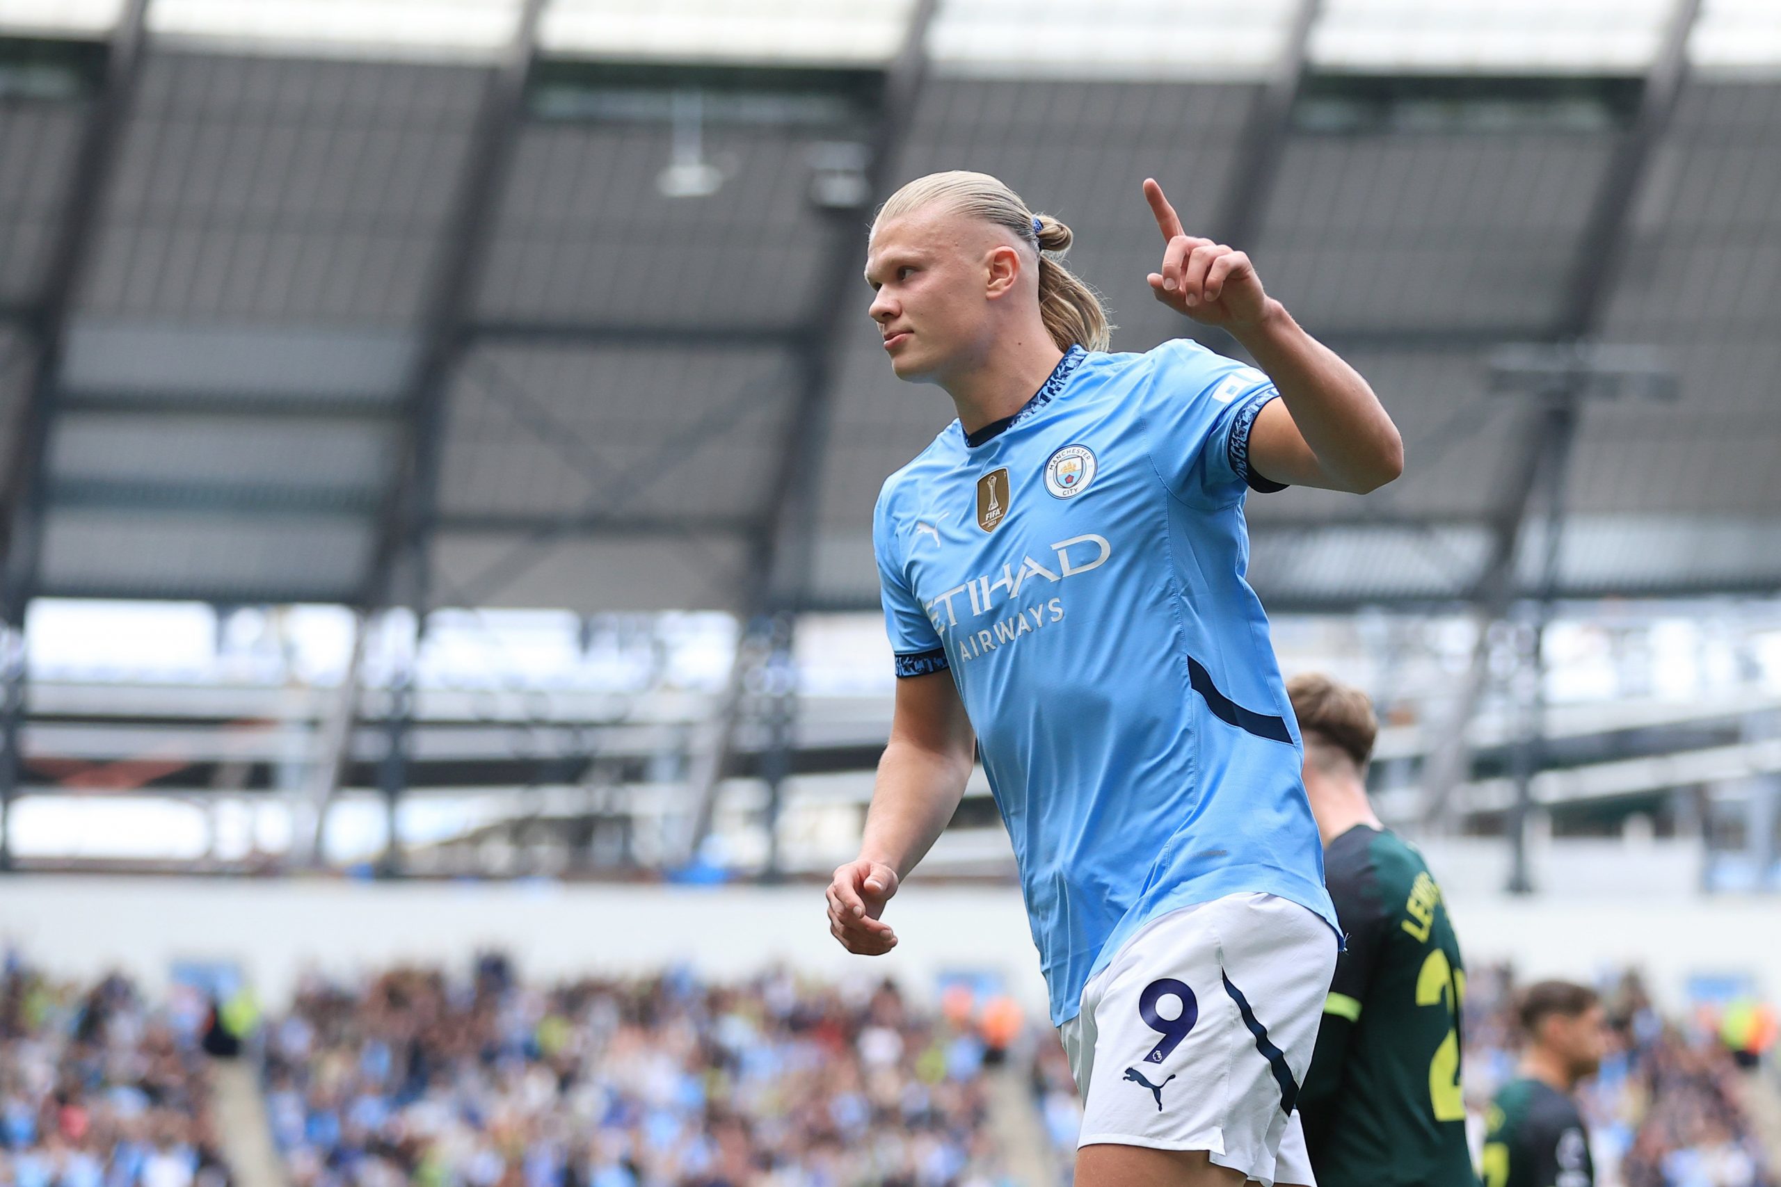
[[[1204,1150],[1266,1187],[1313,1183],[1293,1109],[1336,950],[1316,913],[1265,893],[1145,924],[1060,1029],[1083,1096],[1078,1146]]]

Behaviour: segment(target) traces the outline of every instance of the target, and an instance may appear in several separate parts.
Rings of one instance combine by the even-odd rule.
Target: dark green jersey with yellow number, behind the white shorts
[[[1423,856],[1355,826],[1323,852],[1348,934],[1298,1096],[1320,1187],[1476,1187],[1460,1100],[1466,968]]]

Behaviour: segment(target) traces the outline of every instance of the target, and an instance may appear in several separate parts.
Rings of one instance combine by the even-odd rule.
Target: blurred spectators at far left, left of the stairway
[[[123,977],[0,973],[0,1183],[228,1187],[199,1050],[205,1014],[150,1011]]]

